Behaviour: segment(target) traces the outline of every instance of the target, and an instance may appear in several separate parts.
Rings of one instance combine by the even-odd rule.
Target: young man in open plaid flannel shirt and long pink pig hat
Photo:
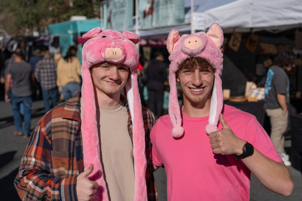
[[[137,88],[137,34],[83,35],[82,91],[37,124],[14,184],[22,200],[157,200]],[[127,98],[120,94],[122,88]],[[135,107],[134,107],[135,105]],[[85,171],[84,171],[85,170]]]

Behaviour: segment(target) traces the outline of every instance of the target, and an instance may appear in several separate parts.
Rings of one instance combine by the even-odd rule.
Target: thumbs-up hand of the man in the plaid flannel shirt
[[[98,188],[98,183],[88,179],[89,174],[93,171],[93,164],[90,164],[84,172],[78,175],[76,179],[76,194],[79,201],[92,200]]]

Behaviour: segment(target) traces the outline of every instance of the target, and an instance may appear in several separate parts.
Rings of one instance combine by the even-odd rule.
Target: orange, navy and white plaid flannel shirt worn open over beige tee
[[[84,171],[81,134],[80,91],[50,110],[35,127],[21,159],[14,186],[22,200],[77,200],[76,178]],[[128,131],[132,121],[127,99]],[[153,177],[149,133],[155,123],[149,109],[142,108],[146,137],[146,184],[148,200],[158,200]]]

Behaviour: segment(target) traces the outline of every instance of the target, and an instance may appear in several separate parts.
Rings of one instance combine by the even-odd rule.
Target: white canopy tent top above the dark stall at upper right
[[[202,15],[193,22],[196,30],[207,29],[213,22],[220,24],[224,31],[233,27],[248,31],[250,28],[283,30],[302,24],[302,0],[238,0],[204,11]]]

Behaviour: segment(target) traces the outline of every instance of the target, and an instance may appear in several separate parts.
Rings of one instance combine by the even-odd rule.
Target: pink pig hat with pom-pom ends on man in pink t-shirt
[[[170,53],[169,60],[171,61],[169,67],[169,116],[173,125],[173,137],[181,137],[184,133],[177,99],[176,71],[178,70],[178,64],[185,61],[188,57],[206,58],[215,68],[209,124],[206,126],[206,132],[209,134],[218,130],[219,114],[223,106],[222,82],[220,79],[223,69],[223,54],[220,50],[222,44],[223,32],[219,24],[216,23],[211,25],[207,33],[184,34],[181,37],[176,29],[171,30],[169,33],[167,39],[167,49]]]

